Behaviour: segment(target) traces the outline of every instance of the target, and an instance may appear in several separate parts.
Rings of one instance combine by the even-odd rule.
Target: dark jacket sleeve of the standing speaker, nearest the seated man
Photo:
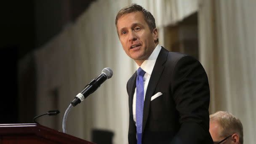
[[[172,96],[181,127],[171,144],[212,144],[209,134],[210,89],[202,65],[190,56],[176,62]]]

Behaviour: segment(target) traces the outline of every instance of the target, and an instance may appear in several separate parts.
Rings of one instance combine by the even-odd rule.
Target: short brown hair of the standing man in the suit
[[[137,11],[141,11],[143,13],[144,19],[147,22],[150,30],[153,30],[156,28],[154,16],[152,16],[152,14],[149,11],[145,10],[142,6],[137,5],[136,3],[133,3],[127,7],[122,8],[117,13],[117,16],[115,17],[115,26],[117,27],[117,21],[121,16],[128,13],[137,12]]]

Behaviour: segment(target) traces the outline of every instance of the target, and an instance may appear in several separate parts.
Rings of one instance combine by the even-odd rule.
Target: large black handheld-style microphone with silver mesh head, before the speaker
[[[75,107],[87,98],[91,93],[96,91],[105,80],[111,78],[112,75],[113,71],[109,67],[102,69],[101,74],[86,85],[81,93],[78,93],[77,96],[75,96],[75,99],[71,102],[72,106]]]

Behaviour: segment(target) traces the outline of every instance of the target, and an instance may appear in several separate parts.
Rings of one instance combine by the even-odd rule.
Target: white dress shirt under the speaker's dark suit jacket
[[[161,46],[158,44],[154,51],[151,53],[149,58],[141,64],[141,69],[143,69],[146,73],[143,77],[143,82],[144,82],[144,100],[145,100],[145,95],[147,91],[147,86],[149,84],[149,79],[151,77],[151,73],[153,71],[153,68],[155,66],[155,61],[157,60],[157,56],[160,53]],[[139,69],[139,65],[137,64],[137,69]],[[133,120],[136,123],[136,88],[133,94]]]

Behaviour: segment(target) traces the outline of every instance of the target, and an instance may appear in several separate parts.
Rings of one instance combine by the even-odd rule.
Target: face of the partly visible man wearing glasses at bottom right
[[[219,143],[220,141],[226,138],[224,136],[221,136],[222,130],[223,129],[221,128],[218,122],[210,121],[209,132],[211,133],[211,137],[214,141],[214,144],[236,144],[234,143],[234,141],[232,141],[232,137],[229,137],[223,142]]]

